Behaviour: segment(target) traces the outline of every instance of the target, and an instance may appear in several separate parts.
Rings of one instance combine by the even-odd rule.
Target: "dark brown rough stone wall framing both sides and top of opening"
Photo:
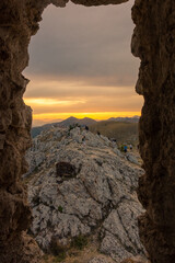
[[[84,5],[127,0],[73,0]],[[0,1],[0,259],[2,263],[39,262],[39,250],[24,231],[31,209],[21,175],[31,145],[32,111],[23,102],[27,80],[27,47],[36,34],[44,9],[65,0]],[[144,96],[140,121],[140,151],[145,175],[139,198],[147,209],[140,217],[140,237],[152,263],[173,263],[175,258],[175,2],[136,0],[137,27],[131,49],[140,57],[137,92]]]

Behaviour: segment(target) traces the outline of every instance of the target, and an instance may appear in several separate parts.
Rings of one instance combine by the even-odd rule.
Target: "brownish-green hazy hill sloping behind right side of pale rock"
[[[102,135],[115,138],[118,144],[138,144],[138,123],[121,123],[103,121],[90,126],[92,133],[100,132]]]

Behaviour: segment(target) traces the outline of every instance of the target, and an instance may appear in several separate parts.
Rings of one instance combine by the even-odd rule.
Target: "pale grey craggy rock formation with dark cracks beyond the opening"
[[[144,254],[136,196],[143,171],[115,142],[78,127],[52,127],[34,139],[27,160],[31,230],[43,249],[51,249],[52,240],[68,245],[74,237],[97,231],[100,250],[116,262]]]

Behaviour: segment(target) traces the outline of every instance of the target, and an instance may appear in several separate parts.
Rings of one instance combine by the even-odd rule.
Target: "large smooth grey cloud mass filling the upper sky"
[[[135,85],[139,61],[130,53],[132,3],[49,7],[30,46],[25,73],[89,85]]]

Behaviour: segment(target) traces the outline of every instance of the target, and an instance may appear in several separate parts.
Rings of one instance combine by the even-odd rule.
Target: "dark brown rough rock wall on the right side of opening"
[[[145,174],[139,199],[147,213],[140,237],[152,263],[175,261],[175,1],[137,0],[132,53],[141,67],[137,92],[144,96],[140,153]]]

